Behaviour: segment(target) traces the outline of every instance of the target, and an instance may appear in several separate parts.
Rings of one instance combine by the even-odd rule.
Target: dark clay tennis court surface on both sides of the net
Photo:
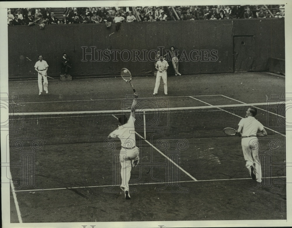
[[[132,83],[141,96],[152,97],[154,77],[133,77]],[[49,80],[48,91],[39,96],[37,81],[9,82],[9,97],[23,100],[24,113],[121,110],[132,94],[120,77]],[[182,75],[168,77],[168,95],[160,99],[180,108],[264,103],[284,93],[285,78],[264,72]],[[160,139],[138,137],[140,165],[131,172],[130,201],[119,188],[119,141],[110,149],[104,142],[44,144],[35,152],[35,187],[22,186],[29,190],[22,192],[14,183],[19,211],[11,191],[11,223],[287,219],[285,136],[260,138],[260,152],[268,151],[271,162],[262,161],[268,176],[258,186],[248,175],[239,137],[184,137],[187,146],[178,153],[177,135],[168,148]],[[271,141],[278,146],[271,149]],[[166,172],[171,151],[180,167],[173,168],[175,177]],[[10,162],[20,162],[18,150],[10,148]],[[20,168],[11,167],[11,175],[19,180]]]

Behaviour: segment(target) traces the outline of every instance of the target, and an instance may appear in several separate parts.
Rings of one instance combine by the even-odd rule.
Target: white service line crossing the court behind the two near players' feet
[[[286,176],[280,176],[280,177],[262,177],[262,179],[274,179],[274,178],[286,178]],[[232,178],[232,179],[211,179],[211,180],[189,180],[189,181],[175,181],[175,182],[147,182],[147,183],[135,183],[135,184],[129,184],[130,185],[150,185],[150,184],[177,184],[177,183],[187,183],[187,182],[209,182],[209,181],[236,181],[236,180],[249,180],[251,177],[247,178]],[[39,191],[52,191],[52,190],[66,190],[66,189],[87,189],[87,188],[100,188],[100,187],[114,187],[114,186],[120,186],[120,184],[115,185],[95,185],[95,186],[79,186],[79,187],[68,187],[68,188],[54,188],[54,189],[31,189],[31,190],[16,190],[14,192],[39,192]]]

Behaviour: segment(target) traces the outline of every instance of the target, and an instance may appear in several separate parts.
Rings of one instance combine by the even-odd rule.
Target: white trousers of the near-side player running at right
[[[262,182],[262,167],[258,160],[258,149],[260,144],[256,137],[247,137],[241,139],[243,156],[246,161],[246,168],[254,167],[257,182]]]

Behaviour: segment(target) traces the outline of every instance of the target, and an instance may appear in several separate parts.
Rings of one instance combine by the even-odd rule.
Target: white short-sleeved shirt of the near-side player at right
[[[264,126],[253,116],[248,116],[239,121],[238,126],[242,127],[242,136],[256,135],[258,130],[262,131]],[[241,137],[242,137],[241,136]]]

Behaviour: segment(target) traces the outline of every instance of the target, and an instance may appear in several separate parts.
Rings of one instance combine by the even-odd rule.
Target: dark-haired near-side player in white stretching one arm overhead
[[[121,140],[120,163],[121,163],[121,189],[125,192],[125,198],[131,199],[129,193],[129,180],[131,177],[132,165],[136,167],[139,163],[139,148],[136,146],[135,139],[135,105],[138,93],[134,93],[134,99],[131,106],[131,115],[127,119],[126,115],[119,117],[119,126],[109,134],[109,137],[119,138]]]

